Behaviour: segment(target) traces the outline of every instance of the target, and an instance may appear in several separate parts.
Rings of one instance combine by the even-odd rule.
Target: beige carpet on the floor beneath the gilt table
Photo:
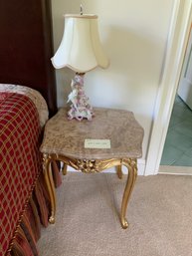
[[[192,176],[138,176],[119,223],[126,176],[68,173],[57,189],[56,223],[41,256],[192,256]]]

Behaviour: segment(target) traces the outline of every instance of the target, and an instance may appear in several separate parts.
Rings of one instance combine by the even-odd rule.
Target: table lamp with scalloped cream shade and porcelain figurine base
[[[97,66],[107,68],[108,60],[102,51],[97,30],[97,16],[94,14],[65,15],[65,29],[62,42],[51,59],[56,69],[68,67],[76,72],[72,80],[72,93],[68,97],[71,109],[68,119],[89,121],[94,117],[93,107],[84,90],[84,76]]]

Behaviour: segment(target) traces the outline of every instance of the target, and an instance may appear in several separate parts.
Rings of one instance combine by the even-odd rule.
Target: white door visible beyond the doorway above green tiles
[[[178,95],[192,110],[192,30],[189,35],[189,41],[181,72]]]

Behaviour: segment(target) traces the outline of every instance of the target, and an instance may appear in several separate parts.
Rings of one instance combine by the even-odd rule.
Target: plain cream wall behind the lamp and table
[[[52,0],[54,44],[64,29],[63,14],[98,15],[98,30],[110,66],[87,73],[85,89],[94,107],[132,111],[145,130],[146,157],[153,111],[161,79],[174,0]],[[58,104],[66,105],[73,72],[57,70]]]

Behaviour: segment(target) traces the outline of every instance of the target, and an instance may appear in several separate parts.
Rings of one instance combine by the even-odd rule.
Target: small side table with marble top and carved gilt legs
[[[93,121],[68,121],[67,110],[61,109],[45,127],[40,150],[43,153],[43,170],[51,200],[50,223],[55,222],[56,193],[52,175],[52,163],[64,163],[62,172],[67,174],[67,166],[85,173],[100,172],[116,167],[118,178],[122,178],[121,167],[128,169],[127,181],[121,202],[120,222],[128,227],[125,218],[127,204],[137,175],[136,159],[141,156],[143,128],[127,111],[95,109]],[[85,148],[86,138],[110,139],[111,148]]]

